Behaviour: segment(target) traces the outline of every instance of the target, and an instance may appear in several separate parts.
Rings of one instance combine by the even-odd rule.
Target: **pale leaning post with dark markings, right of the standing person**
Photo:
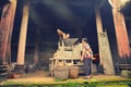
[[[96,12],[96,27],[97,27],[100,64],[104,67],[105,74],[115,74],[109,41],[108,41],[107,33],[103,32],[103,23],[97,3],[95,3],[95,12]]]

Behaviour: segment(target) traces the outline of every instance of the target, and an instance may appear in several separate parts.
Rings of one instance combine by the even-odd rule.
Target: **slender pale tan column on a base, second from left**
[[[17,51],[17,61],[16,61],[16,73],[22,73],[24,70],[24,58],[25,58],[25,48],[26,48],[26,34],[27,34],[27,24],[28,24],[28,14],[29,14],[29,0],[24,0],[23,7],[23,16],[20,32],[20,41],[19,41],[19,51]]]

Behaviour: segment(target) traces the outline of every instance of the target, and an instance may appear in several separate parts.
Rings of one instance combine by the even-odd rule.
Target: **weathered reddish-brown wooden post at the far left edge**
[[[11,42],[14,15],[15,15],[16,0],[11,0],[10,3],[3,7],[1,22],[0,22],[0,61],[4,64],[7,62],[8,45]]]

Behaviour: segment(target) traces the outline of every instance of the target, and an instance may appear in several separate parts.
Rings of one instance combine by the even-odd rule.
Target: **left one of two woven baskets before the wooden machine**
[[[55,69],[55,78],[68,79],[68,77],[69,77],[69,67],[56,67]]]

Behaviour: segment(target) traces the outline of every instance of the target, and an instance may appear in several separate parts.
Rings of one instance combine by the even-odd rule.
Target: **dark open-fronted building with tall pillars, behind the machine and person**
[[[57,50],[57,28],[86,37],[105,74],[131,64],[130,0],[0,0],[0,65],[48,70]]]

